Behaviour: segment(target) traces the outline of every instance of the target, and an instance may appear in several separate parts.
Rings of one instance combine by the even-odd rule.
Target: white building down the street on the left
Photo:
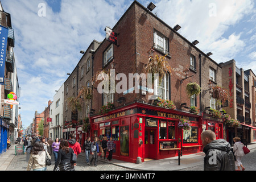
[[[50,118],[52,118],[52,122],[49,124],[49,138],[52,138],[52,140],[63,138],[63,94],[64,84],[61,85],[59,90],[56,90],[50,106]]]

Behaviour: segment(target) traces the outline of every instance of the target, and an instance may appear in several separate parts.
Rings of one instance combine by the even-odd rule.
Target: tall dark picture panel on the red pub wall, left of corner
[[[121,126],[120,154],[129,156],[129,126]]]

